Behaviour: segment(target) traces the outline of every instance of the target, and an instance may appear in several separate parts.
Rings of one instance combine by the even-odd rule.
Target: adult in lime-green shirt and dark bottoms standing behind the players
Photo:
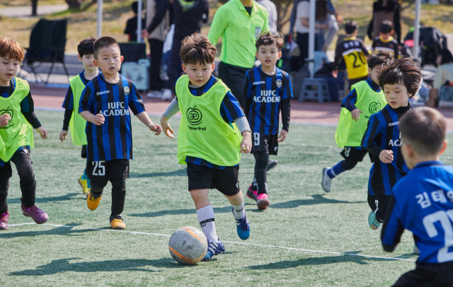
[[[256,37],[269,30],[269,13],[253,0],[231,0],[217,9],[207,35],[212,45],[222,37],[219,78],[231,89],[241,107],[246,71],[255,64]]]

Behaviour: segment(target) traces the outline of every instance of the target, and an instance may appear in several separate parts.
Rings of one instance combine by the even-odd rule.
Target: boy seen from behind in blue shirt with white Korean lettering
[[[430,107],[407,112],[399,124],[411,171],[392,190],[382,247],[393,252],[407,229],[420,257],[394,286],[453,286],[453,168],[439,161],[447,148],[446,127],[445,117]]]

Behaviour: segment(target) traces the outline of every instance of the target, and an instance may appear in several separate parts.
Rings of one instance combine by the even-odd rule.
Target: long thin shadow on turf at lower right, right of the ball
[[[287,269],[287,268],[294,268],[297,266],[301,265],[324,265],[324,264],[335,264],[335,263],[345,263],[345,262],[355,262],[357,264],[361,265],[367,265],[369,264],[370,261],[395,261],[396,259],[386,259],[386,258],[374,258],[374,257],[362,257],[362,256],[355,256],[352,254],[357,254],[360,251],[355,251],[355,252],[348,252],[349,254],[343,254],[340,256],[326,256],[326,257],[310,257],[310,258],[304,258],[304,259],[299,259],[296,261],[279,261],[279,262],[273,262],[269,264],[264,264],[264,265],[253,265],[253,266],[248,266],[244,267],[247,269],[253,269],[253,270],[261,270],[261,269]]]

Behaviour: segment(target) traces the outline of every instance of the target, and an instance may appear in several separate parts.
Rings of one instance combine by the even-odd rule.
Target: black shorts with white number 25
[[[91,187],[103,189],[113,178],[129,178],[129,160],[88,161],[86,175]]]

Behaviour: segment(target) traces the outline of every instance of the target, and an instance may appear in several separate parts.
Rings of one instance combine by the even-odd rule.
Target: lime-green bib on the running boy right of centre
[[[382,110],[387,104],[384,92],[376,93],[369,86],[367,81],[360,81],[352,85],[351,90],[357,92],[357,102],[355,106],[363,113],[360,119],[355,122],[351,117],[350,111],[345,107],[341,109],[338,127],[335,133],[335,140],[340,148],[345,146],[360,146],[363,134],[367,130],[368,119],[371,115]]]

